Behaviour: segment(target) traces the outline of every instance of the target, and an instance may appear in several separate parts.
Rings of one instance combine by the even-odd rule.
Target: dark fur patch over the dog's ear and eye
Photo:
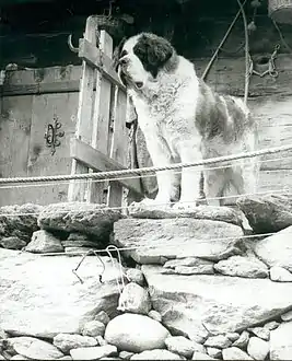
[[[144,69],[153,78],[156,78],[159,70],[174,54],[174,48],[163,37],[144,33],[141,34],[138,43],[135,45],[133,53],[140,59]]]

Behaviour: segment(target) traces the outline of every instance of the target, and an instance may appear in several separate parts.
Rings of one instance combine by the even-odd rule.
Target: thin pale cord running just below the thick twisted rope
[[[292,160],[292,156],[281,156],[281,158],[275,158],[270,160],[259,160],[258,163],[269,163],[269,162],[279,162],[279,161],[287,161],[287,160]],[[241,160],[235,160],[233,164],[236,165],[244,165],[246,164],[245,162],[242,162]],[[211,167],[205,167],[205,171],[214,171],[214,170],[223,170],[223,168],[229,168],[230,165],[221,165],[221,166],[211,166]],[[195,170],[191,170],[194,172]],[[175,174],[180,174],[180,171],[174,171]],[[195,172],[200,172],[200,170],[197,170]],[[282,170],[269,170],[269,172],[282,172]],[[156,174],[139,174],[139,175],[133,175],[133,176],[122,176],[122,177],[115,177],[115,180],[125,180],[125,179],[137,179],[137,178],[143,178],[143,177],[155,177]],[[102,182],[109,182],[113,180],[113,178],[106,178],[106,179],[93,179],[92,183],[102,183]],[[70,180],[60,180],[61,184],[69,184]],[[50,183],[39,183],[39,184],[19,184],[19,185],[8,185],[8,186],[2,186],[1,185],[1,178],[0,178],[0,189],[11,189],[11,188],[25,188],[25,187],[43,187],[43,186],[59,186],[60,182],[50,182]],[[82,182],[82,179],[80,180]],[[83,182],[87,182],[87,179],[84,179]]]

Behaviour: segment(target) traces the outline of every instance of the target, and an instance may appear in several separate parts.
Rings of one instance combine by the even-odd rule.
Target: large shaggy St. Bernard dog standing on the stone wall
[[[128,38],[120,46],[117,71],[135,105],[154,166],[255,150],[256,125],[245,104],[213,92],[165,38],[150,33]],[[180,199],[175,206],[196,205],[201,173],[209,205],[219,206],[230,185],[237,194],[255,193],[255,159],[210,170],[220,165],[184,167]],[[168,205],[177,189],[176,173],[157,172],[156,198],[143,202]]]

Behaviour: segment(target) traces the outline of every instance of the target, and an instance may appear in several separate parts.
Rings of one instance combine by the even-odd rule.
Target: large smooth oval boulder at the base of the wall
[[[105,340],[108,343],[130,352],[162,349],[168,336],[168,330],[159,322],[130,313],[113,318],[105,329]]]

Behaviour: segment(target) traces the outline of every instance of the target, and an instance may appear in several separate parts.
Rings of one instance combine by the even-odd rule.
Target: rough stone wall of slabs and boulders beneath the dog
[[[0,359],[291,359],[292,198],[237,205],[2,207]]]

